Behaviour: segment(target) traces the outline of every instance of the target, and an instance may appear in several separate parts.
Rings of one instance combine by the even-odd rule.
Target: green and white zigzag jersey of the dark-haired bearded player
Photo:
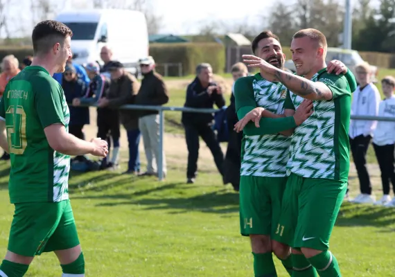
[[[236,109],[263,107],[274,114],[283,114],[288,89],[281,83],[269,82],[258,73],[237,80]],[[243,84],[243,87],[241,86]],[[264,127],[264,126],[263,126]],[[241,153],[242,176],[285,177],[291,139],[281,134],[243,137]]]

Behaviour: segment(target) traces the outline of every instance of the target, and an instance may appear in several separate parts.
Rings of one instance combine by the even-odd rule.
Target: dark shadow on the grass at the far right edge
[[[390,226],[395,224],[395,208],[344,203],[336,226]]]

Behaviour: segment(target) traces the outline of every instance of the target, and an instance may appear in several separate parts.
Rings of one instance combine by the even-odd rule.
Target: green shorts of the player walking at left
[[[15,204],[8,250],[33,257],[80,244],[70,200]]]

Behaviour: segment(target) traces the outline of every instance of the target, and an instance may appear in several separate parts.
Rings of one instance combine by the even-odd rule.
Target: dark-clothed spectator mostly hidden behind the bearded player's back
[[[234,82],[236,82],[238,78],[248,75],[247,66],[243,62],[238,62],[232,66],[231,74]],[[234,190],[238,191],[240,185],[241,140],[243,139],[243,132],[238,133],[234,131],[234,125],[238,122],[234,100],[234,84],[232,85],[230,102],[229,107],[227,107],[229,142],[223,166],[223,181],[224,184],[231,183]]]

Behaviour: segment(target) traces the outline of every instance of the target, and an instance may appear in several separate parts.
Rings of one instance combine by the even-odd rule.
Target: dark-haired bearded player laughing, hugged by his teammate
[[[282,69],[285,55],[279,38],[270,31],[255,37],[252,51]],[[336,72],[346,70],[338,61],[331,64]],[[310,116],[313,102],[304,101],[294,116],[285,117],[283,104],[288,89],[281,83],[263,79],[259,73],[238,79],[234,91],[238,118],[243,118],[236,131],[243,129],[245,134],[240,170],[240,233],[251,240],[255,276],[277,276],[272,252],[291,275],[290,247],[271,240],[271,236],[277,231],[286,188],[290,135],[293,128]],[[252,118],[258,118],[255,125],[249,123]]]

